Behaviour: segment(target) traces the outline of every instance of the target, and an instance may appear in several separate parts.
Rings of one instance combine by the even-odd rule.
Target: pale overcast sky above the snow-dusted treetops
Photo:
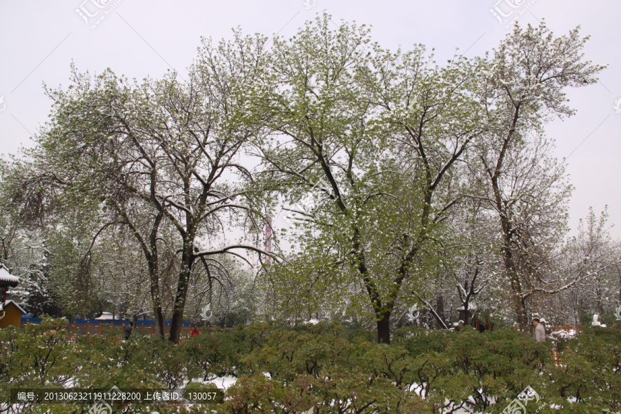
[[[455,48],[467,57],[491,50],[516,17],[522,25],[545,19],[555,34],[582,26],[582,34],[591,36],[586,59],[609,67],[600,83],[568,91],[577,114],[554,121],[546,132],[556,141],[555,154],[569,164],[573,231],[589,206],[600,212],[608,205],[609,224],[617,224],[611,234],[621,237],[618,0],[0,0],[0,152],[32,145],[30,137],[51,107],[42,85],[68,86],[71,61],[80,71],[111,68],[129,78],[157,78],[173,68],[183,75],[201,36],[230,38],[237,26],[245,33],[288,36],[323,10],[337,23],[372,26],[373,39],[386,48],[435,48],[438,62]]]

